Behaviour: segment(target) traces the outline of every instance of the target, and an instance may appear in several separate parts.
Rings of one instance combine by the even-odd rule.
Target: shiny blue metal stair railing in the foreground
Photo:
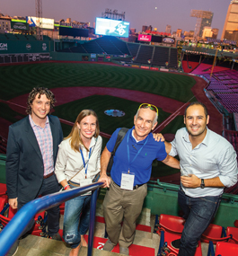
[[[39,199],[34,199],[27,203],[15,214],[15,216],[13,216],[13,219],[4,227],[3,231],[0,233],[0,256],[6,255],[6,253],[13,246],[13,243],[21,236],[22,231],[28,224],[30,224],[31,219],[37,213],[40,213],[41,211],[47,210],[51,207],[56,207],[57,205],[60,205],[69,199],[74,199],[91,190],[92,198],[88,235],[88,256],[92,256],[96,201],[98,190],[102,184],[103,182],[96,182],[82,188],[75,188],[72,190],[50,194]]]

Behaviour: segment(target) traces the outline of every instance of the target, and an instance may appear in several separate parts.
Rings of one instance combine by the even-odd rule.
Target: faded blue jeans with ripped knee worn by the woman
[[[71,188],[75,188],[71,185]],[[91,195],[79,196],[66,201],[63,237],[71,248],[76,248],[81,242],[81,235],[86,234],[90,219]]]

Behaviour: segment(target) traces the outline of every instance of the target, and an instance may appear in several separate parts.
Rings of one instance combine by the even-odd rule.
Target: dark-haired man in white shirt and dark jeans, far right
[[[179,256],[192,256],[198,240],[207,229],[220,205],[225,187],[237,182],[234,147],[207,128],[209,115],[201,102],[192,102],[185,110],[184,124],[172,143],[165,142],[166,152],[179,155],[181,188],[179,205],[186,219],[181,240],[172,242],[180,248]]]

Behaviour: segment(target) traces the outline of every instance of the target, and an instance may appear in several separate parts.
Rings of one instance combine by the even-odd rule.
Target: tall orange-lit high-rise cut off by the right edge
[[[228,6],[221,39],[231,40],[236,29],[238,29],[238,0],[233,0]]]

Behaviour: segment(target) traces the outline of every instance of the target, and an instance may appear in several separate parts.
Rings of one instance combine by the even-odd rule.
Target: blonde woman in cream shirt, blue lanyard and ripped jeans
[[[56,163],[57,181],[70,190],[96,181],[100,172],[101,137],[99,121],[93,110],[82,110],[68,137],[59,145]],[[70,256],[86,246],[91,195],[66,201],[63,237],[71,245]]]

